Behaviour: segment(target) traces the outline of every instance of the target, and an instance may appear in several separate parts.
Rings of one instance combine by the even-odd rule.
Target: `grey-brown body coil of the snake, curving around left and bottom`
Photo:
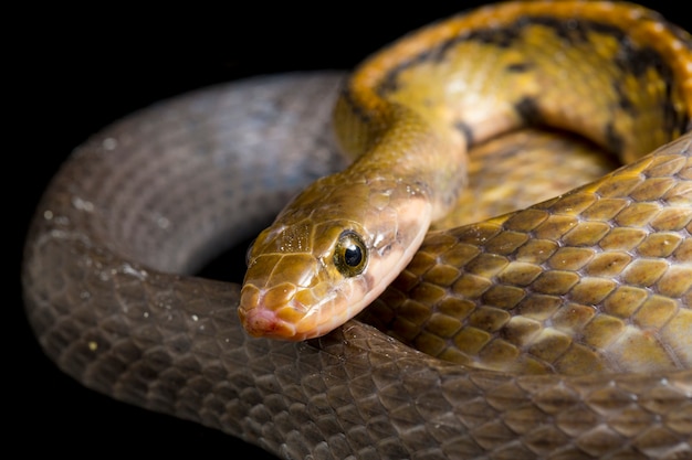
[[[303,184],[343,165],[325,136],[328,98],[282,106],[324,115],[301,138],[313,157],[280,171],[284,178],[270,161],[281,148],[268,151],[264,137],[244,126],[235,137],[222,128],[238,117],[224,109],[248,98],[256,101],[248,108],[255,120],[277,117],[275,136],[289,138],[300,117],[275,115],[277,93],[289,88],[301,100],[337,85],[336,77],[277,82],[218,88],[128,118],[82,147],[53,182],[29,238],[24,280],[30,319],[65,372],[285,458],[690,453],[689,370],[665,378],[469,372],[358,322],[308,343],[253,340],[234,320],[238,287],[167,275],[193,271],[216,246],[249,236],[252,220],[265,223]],[[231,138],[241,143],[220,148]],[[689,143],[682,138],[664,153],[689,156]],[[108,154],[118,149],[128,156]],[[224,157],[241,150],[254,152],[243,164]],[[154,181],[151,151],[170,160]],[[243,175],[249,168],[266,175]],[[665,171],[660,181],[685,176],[684,168]],[[262,208],[205,202],[199,190],[209,183],[226,183],[221,196],[252,196]],[[235,206],[247,227],[234,225]]]

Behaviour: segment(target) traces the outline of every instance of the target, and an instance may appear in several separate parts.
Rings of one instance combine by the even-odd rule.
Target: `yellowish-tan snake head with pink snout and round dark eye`
[[[410,261],[429,226],[429,204],[423,196],[410,200],[399,190],[410,188],[397,184],[386,204],[374,205],[359,199],[373,196],[373,184],[365,185],[325,193],[318,183],[258,236],[239,307],[249,334],[323,335],[375,300]]]

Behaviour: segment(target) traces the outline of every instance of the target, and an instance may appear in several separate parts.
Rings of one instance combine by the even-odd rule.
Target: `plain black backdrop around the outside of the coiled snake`
[[[188,4],[146,14],[99,7],[36,9],[6,18],[19,25],[3,57],[4,100],[10,101],[3,105],[10,139],[3,154],[11,164],[3,186],[14,232],[6,236],[12,296],[4,306],[10,314],[3,318],[2,367],[10,443],[21,443],[25,453],[51,449],[72,458],[97,451],[160,458],[191,449],[197,456],[238,457],[243,446],[221,432],[84,389],[60,373],[33,340],[22,310],[22,245],[42,191],[75,146],[138,108],[195,88],[256,74],[350,68],[403,33],[479,3],[484,2],[377,11],[353,2],[279,9],[260,2]],[[669,10],[643,3],[692,29],[683,3],[668,3]],[[243,458],[272,458],[250,449]]]

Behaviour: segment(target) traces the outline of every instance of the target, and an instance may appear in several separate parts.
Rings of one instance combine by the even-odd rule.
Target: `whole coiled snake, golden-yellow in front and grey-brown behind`
[[[346,81],[264,77],[155,105],[94,135],[51,182],[24,248],[27,315],[83,385],[281,458],[689,457],[691,49],[686,32],[633,4],[508,2],[415,32]],[[428,232],[462,193],[476,145],[528,125],[576,132],[627,164]],[[273,319],[245,331],[238,308],[264,308],[256,285],[276,276],[295,291],[286,276],[301,278],[294,264],[255,276],[258,254],[277,240],[303,259],[312,250],[272,231],[305,221],[285,204],[355,197],[337,207],[359,212],[350,203],[366,201],[370,180],[350,175],[317,199],[307,184],[367,174],[373,148],[399,178],[392,146],[434,165],[392,182],[401,215],[424,217],[407,236],[420,247],[375,246],[363,221],[311,235],[337,243],[323,259],[342,270],[329,275],[369,274],[378,249],[406,253],[403,271],[331,331],[274,340],[290,328]],[[369,214],[394,214],[399,196],[378,193],[385,212]],[[193,276],[263,227],[248,257],[254,287]]]

